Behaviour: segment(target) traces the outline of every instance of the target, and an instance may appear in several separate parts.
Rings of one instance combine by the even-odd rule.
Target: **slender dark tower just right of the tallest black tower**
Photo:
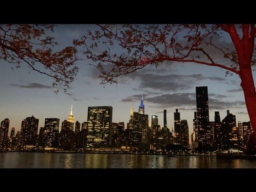
[[[222,129],[222,122],[220,121],[220,112],[215,111],[214,116],[215,123],[215,140],[216,140],[216,150],[222,150],[225,144],[224,130]]]

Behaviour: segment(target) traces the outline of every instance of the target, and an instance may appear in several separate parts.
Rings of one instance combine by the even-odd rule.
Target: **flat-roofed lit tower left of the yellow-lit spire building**
[[[42,147],[44,148],[57,148],[59,136],[60,119],[58,118],[45,118],[42,139]],[[40,131],[39,131],[40,137]]]

